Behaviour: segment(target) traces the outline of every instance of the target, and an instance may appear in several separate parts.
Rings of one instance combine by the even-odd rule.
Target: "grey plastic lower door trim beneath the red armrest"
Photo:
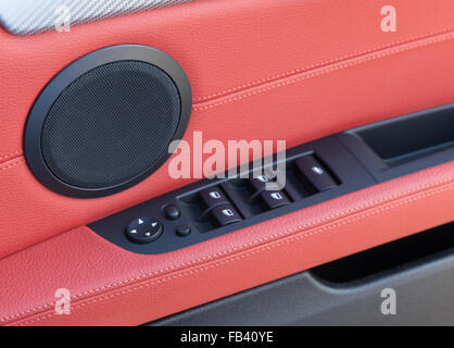
[[[148,325],[454,325],[453,252],[446,250],[344,287],[302,272]],[[381,312],[386,288],[395,290],[395,315]]]

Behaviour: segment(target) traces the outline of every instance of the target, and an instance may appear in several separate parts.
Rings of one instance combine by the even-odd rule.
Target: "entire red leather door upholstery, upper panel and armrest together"
[[[46,83],[116,44],[156,47],[186,70],[188,140],[202,130],[204,139],[292,147],[453,102],[454,2],[393,3],[396,33],[380,30],[380,0],[200,0],[71,33],[0,30],[0,322],[140,324],[452,221],[449,163],[186,250],[136,256],[77,226],[187,181],[171,179],[164,165],[124,192],[73,199],[42,187],[22,156],[27,112]],[[62,287],[73,295],[71,315],[53,314]]]

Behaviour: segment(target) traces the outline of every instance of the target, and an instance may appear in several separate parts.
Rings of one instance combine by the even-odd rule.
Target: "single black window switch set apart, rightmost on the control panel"
[[[300,175],[308,181],[318,191],[338,186],[329,172],[313,157],[305,156],[295,161]]]

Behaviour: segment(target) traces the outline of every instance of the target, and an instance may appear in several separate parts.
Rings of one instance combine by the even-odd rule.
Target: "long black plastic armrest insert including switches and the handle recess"
[[[191,184],[89,227],[137,253],[181,249],[454,161],[453,129],[454,104],[350,129],[288,150],[285,183],[273,189],[267,169],[250,169],[241,177]]]

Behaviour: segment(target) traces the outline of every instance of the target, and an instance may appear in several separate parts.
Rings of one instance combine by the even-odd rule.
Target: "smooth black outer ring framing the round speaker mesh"
[[[174,139],[181,139],[192,109],[192,91],[181,66],[167,53],[142,45],[118,45],[90,52],[60,71],[42,89],[28,114],[24,130],[24,154],[35,177],[58,194],[74,198],[97,198],[125,190],[155,172],[169,158],[165,152],[155,164],[143,173],[122,184],[102,188],[83,188],[62,182],[48,167],[41,151],[41,132],[47,114],[58,97],[83,74],[104,64],[119,61],[139,61],[161,69],[173,80],[180,97],[180,117]]]

